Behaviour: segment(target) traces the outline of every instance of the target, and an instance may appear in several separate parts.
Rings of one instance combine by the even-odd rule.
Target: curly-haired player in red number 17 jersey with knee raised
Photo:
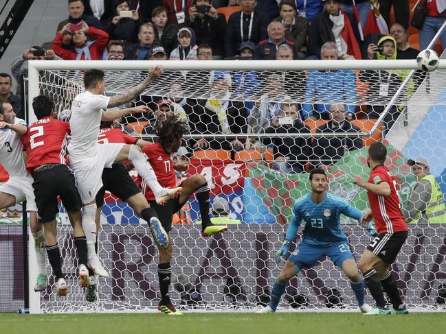
[[[159,184],[163,184],[161,187],[175,187],[177,185],[175,167],[180,170],[181,165],[174,165],[172,154],[177,152],[181,146],[183,135],[189,132],[187,123],[186,121],[181,121],[177,116],[172,116],[157,124],[155,130],[158,135],[157,143],[144,146],[142,152],[148,157],[148,161],[153,171],[155,171]],[[183,193],[179,195],[179,198],[168,200],[164,206],[157,204],[153,192],[150,191],[150,188],[147,187],[146,182],[142,178],[138,177],[137,182],[141,185],[142,192],[146,196],[150,206],[157,211],[158,217],[166,232],[172,229],[172,215],[179,211],[193,193],[197,194],[196,196],[200,206],[202,235],[207,237],[208,235],[214,235],[227,230],[227,226],[216,226],[210,222],[209,187],[208,182],[206,182],[203,176],[196,174],[181,182],[180,186],[183,187]],[[158,309],[167,315],[181,315],[181,312],[177,311],[172,305],[168,295],[170,276],[172,274],[172,268],[170,267],[171,259],[172,239],[169,236],[168,248],[159,248],[158,278],[161,300],[159,301]]]

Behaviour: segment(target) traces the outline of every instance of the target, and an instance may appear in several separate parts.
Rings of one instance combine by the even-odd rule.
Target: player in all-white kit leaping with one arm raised
[[[109,274],[102,267],[95,252],[96,242],[96,194],[102,187],[102,170],[111,168],[115,162],[131,160],[138,174],[147,182],[159,204],[177,197],[182,188],[166,189],[158,183],[155,173],[147,162],[140,147],[123,143],[98,144],[100,121],[114,121],[131,112],[146,112],[150,109],[139,106],[130,109],[107,110],[131,102],[161,75],[162,68],[154,67],[147,77],[122,95],[107,97],[104,95],[104,72],[96,69],[85,71],[85,92],[74,98],[71,104],[71,141],[68,145],[69,165],[76,176],[76,182],[82,198],[84,215],[82,228],[87,237],[88,264],[102,277]],[[104,111],[104,110],[107,110]],[[168,246],[168,245],[166,245]]]

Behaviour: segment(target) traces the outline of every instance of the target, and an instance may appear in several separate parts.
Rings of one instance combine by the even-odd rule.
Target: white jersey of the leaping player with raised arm
[[[107,110],[110,97],[80,93],[71,104],[71,141],[68,145],[70,159],[91,158],[98,155],[99,128],[102,109]]]

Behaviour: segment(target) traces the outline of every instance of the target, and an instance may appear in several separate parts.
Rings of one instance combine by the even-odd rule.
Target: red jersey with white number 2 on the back
[[[49,163],[68,165],[69,123],[52,117],[43,117],[31,124],[22,136],[28,161],[26,169],[32,173],[35,167]]]

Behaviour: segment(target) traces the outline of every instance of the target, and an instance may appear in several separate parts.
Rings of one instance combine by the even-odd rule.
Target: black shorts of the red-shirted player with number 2
[[[82,208],[76,179],[67,165],[37,171],[32,187],[36,196],[38,222],[47,223],[56,219],[56,213],[59,212],[58,196],[67,211],[76,212]]]

